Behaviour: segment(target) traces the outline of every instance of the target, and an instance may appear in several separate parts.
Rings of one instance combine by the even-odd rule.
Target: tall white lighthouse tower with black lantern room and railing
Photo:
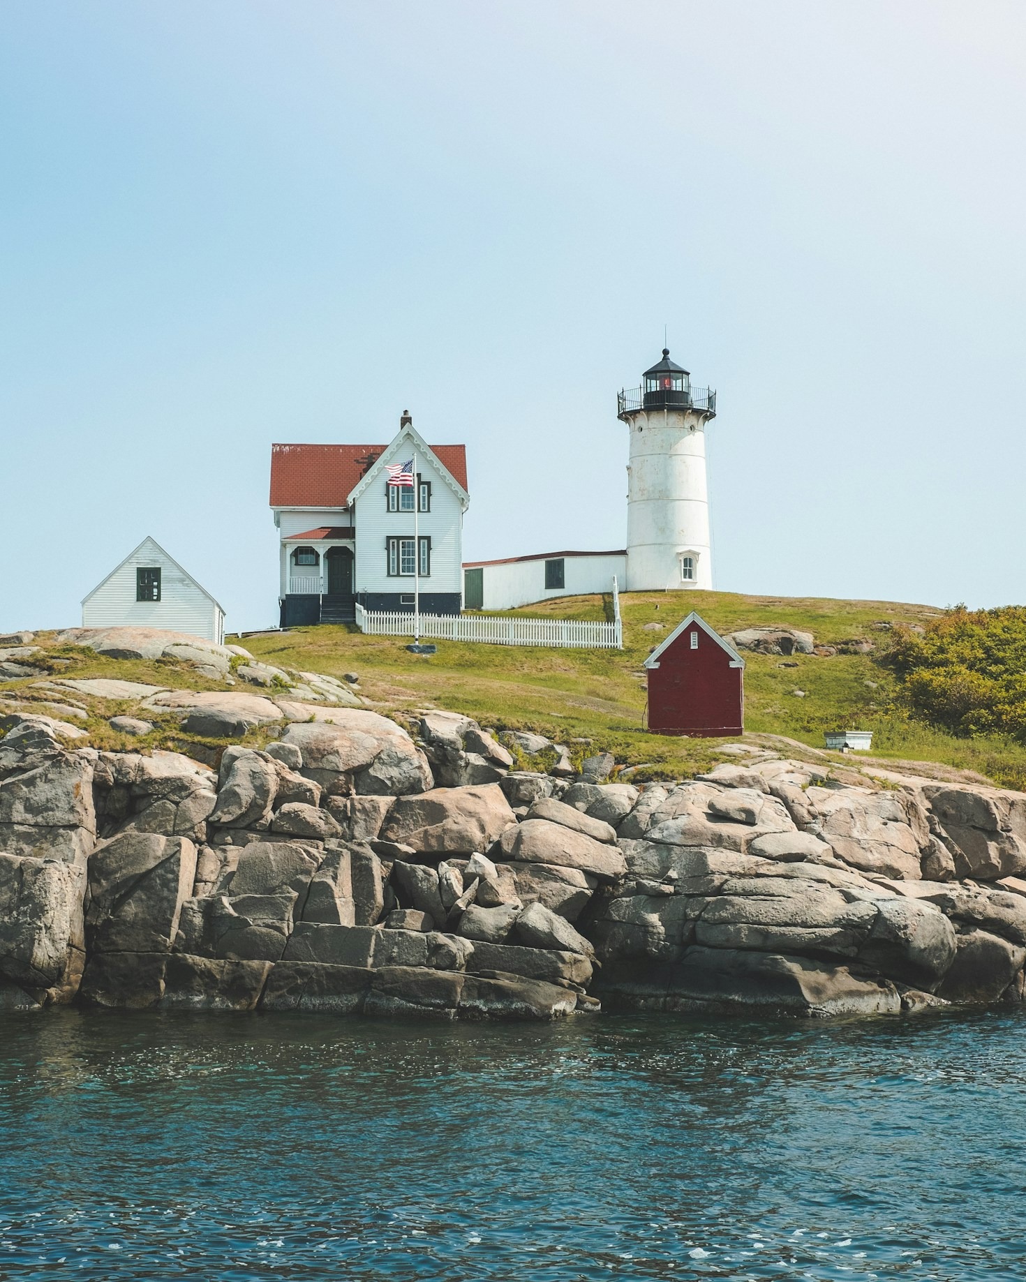
[[[669,349],[643,385],[619,394],[631,431],[627,464],[627,591],[712,587],[705,424],[716,392],[693,387]]]

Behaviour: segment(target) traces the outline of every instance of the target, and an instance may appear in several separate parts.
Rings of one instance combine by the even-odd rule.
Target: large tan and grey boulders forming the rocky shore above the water
[[[540,736],[453,713],[410,732],[330,685],[319,703],[146,697],[222,735],[267,703],[276,737],[227,744],[210,769],[3,714],[4,1010],[826,1017],[1023,1000],[1023,794],[840,779],[741,746],[708,776],[634,786],[605,781],[609,758],[575,772]],[[516,768],[532,759],[548,769]]]

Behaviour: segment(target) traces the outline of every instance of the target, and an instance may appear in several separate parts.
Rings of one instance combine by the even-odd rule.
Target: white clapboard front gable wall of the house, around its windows
[[[413,537],[413,513],[389,512],[385,499],[385,465],[410,455],[408,438],[392,441],[382,455],[376,477],[357,500],[357,592],[412,592],[413,578],[389,576],[386,540]],[[422,592],[463,592],[463,509],[459,495],[446,481],[433,455],[418,451],[417,469],[431,482],[431,512],[417,514],[421,538],[431,538],[431,574],[422,578]]]

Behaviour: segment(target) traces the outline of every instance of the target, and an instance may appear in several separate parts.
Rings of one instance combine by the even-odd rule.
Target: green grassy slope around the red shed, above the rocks
[[[601,619],[608,609],[608,599],[580,596],[512,613]],[[1026,747],[1011,737],[957,738],[895,709],[895,677],[879,662],[880,653],[894,624],[923,626],[939,615],[936,609],[730,592],[625,594],[621,609],[622,651],[439,641],[436,655],[422,656],[409,654],[400,637],[368,637],[345,627],[249,636],[245,645],[272,664],[331,676],[357,672],[364,695],[390,710],[432,704],[466,713],[482,726],[590,740],[577,751],[607,749],[628,764],[648,764],[648,777],[672,777],[708,768],[721,758],[721,741],[669,738],[644,729],[645,656],[689,609],[719,632],[784,624],[812,632],[817,645],[839,646],[841,653],[786,659],[746,654],[749,735],[784,735],[822,749],[827,729],[872,729],[873,758],[936,762],[1026,787]],[[662,631],[646,624],[660,624]],[[873,649],[858,653],[858,642]]]

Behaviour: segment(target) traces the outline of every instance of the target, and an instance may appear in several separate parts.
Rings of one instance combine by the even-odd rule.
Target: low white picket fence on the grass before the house
[[[612,623],[593,619],[530,619],[519,615],[422,614],[421,636],[432,641],[480,641],[485,645],[559,646],[564,650],[622,650],[623,622],[619,592],[613,579]],[[412,637],[413,614],[400,610],[364,610],[357,603],[357,627],[369,636]]]

